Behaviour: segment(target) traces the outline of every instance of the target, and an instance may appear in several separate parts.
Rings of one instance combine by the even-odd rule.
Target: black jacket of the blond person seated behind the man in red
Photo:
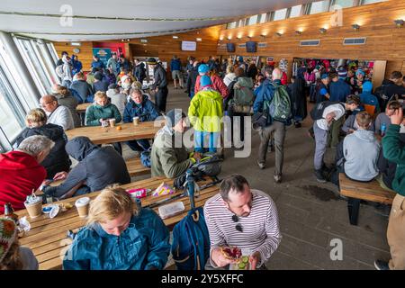
[[[23,142],[23,139],[33,135],[46,136],[55,142],[55,146],[50,150],[48,157],[40,163],[47,170],[47,179],[52,179],[58,172],[68,171],[70,160],[65,150],[67,136],[62,127],[49,123],[41,127],[27,128],[23,130],[21,136],[16,140],[17,147]]]

